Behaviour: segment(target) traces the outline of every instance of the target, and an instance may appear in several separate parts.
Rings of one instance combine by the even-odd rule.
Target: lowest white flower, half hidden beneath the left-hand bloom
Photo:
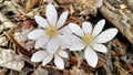
[[[55,66],[58,66],[60,69],[63,69],[64,62],[62,57],[68,58],[68,53],[62,49],[58,50],[54,54],[50,54],[48,51],[38,51],[32,55],[31,61],[42,62],[42,66],[44,66],[45,64],[50,63],[53,57]]]

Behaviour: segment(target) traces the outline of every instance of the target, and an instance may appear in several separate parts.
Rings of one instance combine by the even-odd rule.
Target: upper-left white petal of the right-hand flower
[[[78,24],[69,23],[69,26],[73,33],[75,33],[79,36],[83,36],[83,31],[81,30],[81,28]]]

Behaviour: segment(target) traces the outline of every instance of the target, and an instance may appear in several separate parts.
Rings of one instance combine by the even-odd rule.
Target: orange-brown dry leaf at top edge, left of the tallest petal
[[[25,12],[30,11],[33,7],[39,4],[40,0],[28,0],[25,3]]]

